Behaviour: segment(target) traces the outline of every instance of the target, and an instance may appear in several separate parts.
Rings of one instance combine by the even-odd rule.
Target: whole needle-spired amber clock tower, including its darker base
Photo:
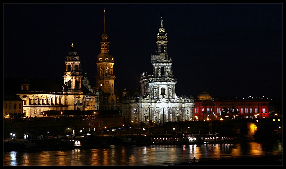
[[[107,41],[108,35],[105,31],[105,10],[104,10],[104,31],[102,34],[102,41],[100,42],[100,53],[97,55],[97,75],[96,87],[101,93],[100,103],[101,108],[104,110],[116,110],[113,103],[117,102],[117,97],[114,92],[114,80],[115,76],[113,74],[113,64],[114,57],[109,53],[109,42]],[[119,100],[118,100],[119,101]]]

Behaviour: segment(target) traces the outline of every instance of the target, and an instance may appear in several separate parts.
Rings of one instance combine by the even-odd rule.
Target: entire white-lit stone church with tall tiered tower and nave
[[[172,58],[167,53],[167,33],[161,27],[157,34],[157,51],[151,56],[153,75],[141,74],[141,95],[122,101],[122,115],[126,121],[164,123],[190,121],[194,118],[193,96],[179,98],[175,93],[176,79],[172,72]],[[131,123],[132,124],[132,123]]]

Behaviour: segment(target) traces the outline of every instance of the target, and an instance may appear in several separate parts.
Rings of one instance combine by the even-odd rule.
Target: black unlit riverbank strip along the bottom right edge
[[[267,157],[245,157],[234,159],[219,159],[219,160],[199,160],[191,163],[179,163],[174,166],[283,166],[283,155],[267,156]]]

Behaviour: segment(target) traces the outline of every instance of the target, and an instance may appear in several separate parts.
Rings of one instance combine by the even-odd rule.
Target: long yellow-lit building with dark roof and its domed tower
[[[48,110],[99,110],[99,93],[83,85],[80,60],[73,44],[65,59],[63,77],[64,81],[4,79],[4,95],[6,92],[18,95],[22,100],[21,113],[26,117],[46,117],[43,112]],[[89,83],[87,78],[85,82]],[[3,111],[3,115],[7,113]]]

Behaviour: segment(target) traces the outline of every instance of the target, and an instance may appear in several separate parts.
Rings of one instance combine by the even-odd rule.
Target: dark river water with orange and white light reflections
[[[172,165],[197,160],[283,155],[282,142],[203,145],[111,145],[99,149],[4,152],[3,165],[14,166],[140,166]]]

